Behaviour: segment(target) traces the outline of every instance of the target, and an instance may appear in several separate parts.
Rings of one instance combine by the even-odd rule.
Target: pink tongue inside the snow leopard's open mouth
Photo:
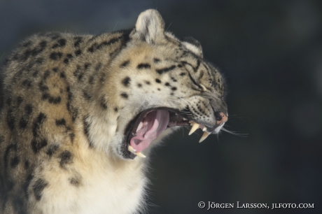
[[[130,145],[132,145],[137,152],[145,150],[162,131],[165,131],[168,123],[169,111],[153,110],[140,122],[138,127],[140,130],[137,130],[137,136],[131,138]]]

